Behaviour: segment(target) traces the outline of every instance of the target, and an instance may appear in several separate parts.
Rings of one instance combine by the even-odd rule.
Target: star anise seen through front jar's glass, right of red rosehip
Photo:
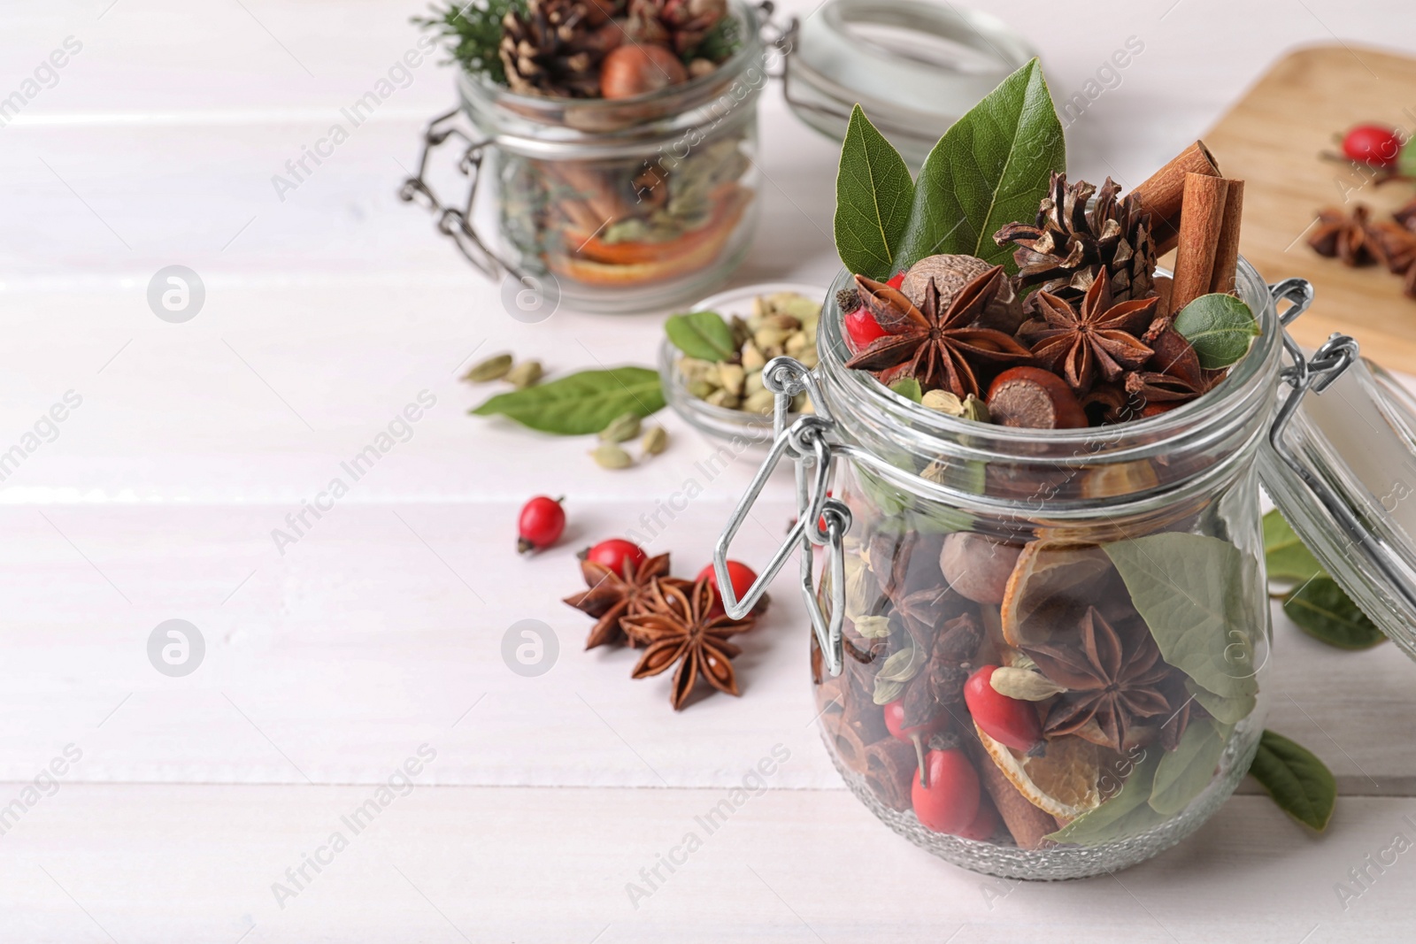
[[[1175,710],[1164,693],[1175,669],[1161,660],[1144,624],[1121,634],[1096,607],[1087,607],[1080,647],[1045,643],[1025,651],[1044,675],[1068,688],[1048,710],[1046,735],[1072,735],[1095,719],[1106,746],[1119,752],[1137,719]]]

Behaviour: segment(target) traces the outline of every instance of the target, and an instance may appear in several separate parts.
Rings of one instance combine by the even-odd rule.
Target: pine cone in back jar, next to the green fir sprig
[[[595,0],[527,0],[501,20],[507,84],[523,95],[598,98],[600,61],[620,37]]]

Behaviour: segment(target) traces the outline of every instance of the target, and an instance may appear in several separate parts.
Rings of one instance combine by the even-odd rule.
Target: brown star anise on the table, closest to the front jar
[[[750,630],[756,618],[714,616],[716,601],[718,592],[707,577],[691,587],[654,580],[644,610],[620,621],[624,633],[646,647],[633,678],[649,678],[678,665],[670,695],[674,710],[683,710],[700,675],[719,692],[738,693],[732,658],[742,650],[728,638]]]

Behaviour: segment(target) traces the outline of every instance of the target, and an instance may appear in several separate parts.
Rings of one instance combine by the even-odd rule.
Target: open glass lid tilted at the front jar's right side
[[[1284,323],[1311,300],[1306,282],[1289,282],[1303,299]],[[1416,658],[1416,399],[1349,337],[1313,354],[1287,337],[1284,347],[1263,485],[1332,579]]]

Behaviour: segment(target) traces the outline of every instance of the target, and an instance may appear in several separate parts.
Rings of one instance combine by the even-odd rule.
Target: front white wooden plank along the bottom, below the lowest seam
[[[725,790],[412,781],[358,832],[346,818],[371,787],[61,785],[3,838],[0,940],[1410,940],[1410,853],[1389,853],[1381,873],[1366,865],[1396,832],[1416,836],[1410,800],[1347,798],[1315,841],[1266,798],[1239,797],[1185,844],[1124,873],[1015,883],[913,848],[841,790],[746,795],[708,832],[700,818]],[[691,832],[701,848],[675,852]],[[334,834],[344,838],[337,851]],[[673,873],[641,876],[670,853]],[[306,856],[323,868],[300,876]],[[1364,866],[1365,889],[1348,877]],[[1361,894],[1344,902],[1334,890],[1344,882]],[[632,900],[632,883],[646,894]]]

